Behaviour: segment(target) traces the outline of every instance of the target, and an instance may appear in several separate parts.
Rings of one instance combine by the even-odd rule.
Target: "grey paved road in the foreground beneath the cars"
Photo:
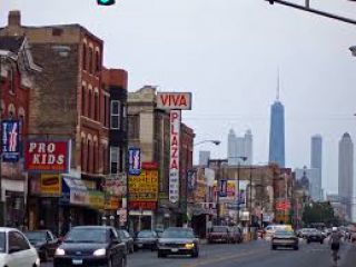
[[[340,250],[339,267],[354,267],[356,244],[346,244]],[[41,266],[50,267],[51,263]],[[257,240],[240,245],[201,245],[199,258],[157,258],[157,253],[138,251],[128,257],[128,267],[332,267],[327,245],[300,244],[298,251],[270,250],[269,243]]]

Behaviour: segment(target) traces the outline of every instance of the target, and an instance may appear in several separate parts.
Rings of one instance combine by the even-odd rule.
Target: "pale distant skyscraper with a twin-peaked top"
[[[247,157],[246,161],[239,157]],[[237,137],[230,129],[227,147],[228,165],[251,165],[253,164],[253,134],[247,130],[244,137]]]

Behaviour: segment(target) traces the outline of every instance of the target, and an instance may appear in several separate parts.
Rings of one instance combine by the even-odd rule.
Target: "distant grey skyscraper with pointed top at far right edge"
[[[354,144],[345,132],[338,144],[338,195],[346,205],[346,216],[352,219],[354,195]]]

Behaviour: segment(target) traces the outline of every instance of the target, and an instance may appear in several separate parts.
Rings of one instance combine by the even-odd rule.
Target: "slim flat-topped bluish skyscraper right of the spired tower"
[[[310,167],[317,169],[318,174],[315,180],[312,180],[312,199],[315,201],[320,201],[323,197],[322,190],[322,155],[323,155],[323,139],[320,135],[315,135],[312,137],[310,144]]]

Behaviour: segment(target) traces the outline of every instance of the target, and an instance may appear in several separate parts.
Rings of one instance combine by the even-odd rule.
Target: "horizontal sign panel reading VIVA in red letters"
[[[191,92],[158,92],[157,108],[190,110]]]

